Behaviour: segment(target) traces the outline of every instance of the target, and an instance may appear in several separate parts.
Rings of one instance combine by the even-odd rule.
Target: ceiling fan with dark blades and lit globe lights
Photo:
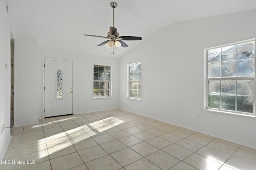
[[[114,14],[115,14],[115,8],[117,7],[117,3],[111,2],[110,6],[113,8],[113,27],[110,26],[107,37],[98,36],[98,35],[88,35],[88,34],[84,34],[84,35],[92,36],[92,37],[102,37],[102,38],[108,39],[108,40],[100,43],[98,46],[106,44],[106,46],[108,48],[113,47],[115,49],[119,48],[120,46],[128,47],[128,45],[122,40],[142,40],[141,37],[134,37],[134,36],[121,36],[120,37],[119,36],[117,29],[114,27]],[[114,54],[114,52],[113,52],[113,54]]]

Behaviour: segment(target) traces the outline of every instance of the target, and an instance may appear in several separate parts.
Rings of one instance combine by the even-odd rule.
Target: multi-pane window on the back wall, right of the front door
[[[93,68],[93,97],[111,97],[110,66],[94,65]]]

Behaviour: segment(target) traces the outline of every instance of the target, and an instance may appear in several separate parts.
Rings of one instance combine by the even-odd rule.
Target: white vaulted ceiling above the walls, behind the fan
[[[13,33],[38,37],[38,46],[120,58],[150,35],[173,23],[256,9],[256,0],[6,0]],[[129,47],[100,46],[112,26],[110,2],[117,2],[115,27]],[[238,21],[239,22],[239,21]],[[171,40],[170,40],[171,41]]]

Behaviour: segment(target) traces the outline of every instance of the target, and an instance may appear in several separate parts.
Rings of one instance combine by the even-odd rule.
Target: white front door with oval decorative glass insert
[[[44,116],[73,113],[73,63],[44,60]]]

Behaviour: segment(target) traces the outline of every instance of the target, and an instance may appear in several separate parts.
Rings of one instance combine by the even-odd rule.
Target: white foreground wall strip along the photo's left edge
[[[0,128],[10,127],[10,23],[6,2],[0,1]],[[7,67],[5,66],[7,64]],[[0,160],[11,139],[10,128],[0,129]]]

